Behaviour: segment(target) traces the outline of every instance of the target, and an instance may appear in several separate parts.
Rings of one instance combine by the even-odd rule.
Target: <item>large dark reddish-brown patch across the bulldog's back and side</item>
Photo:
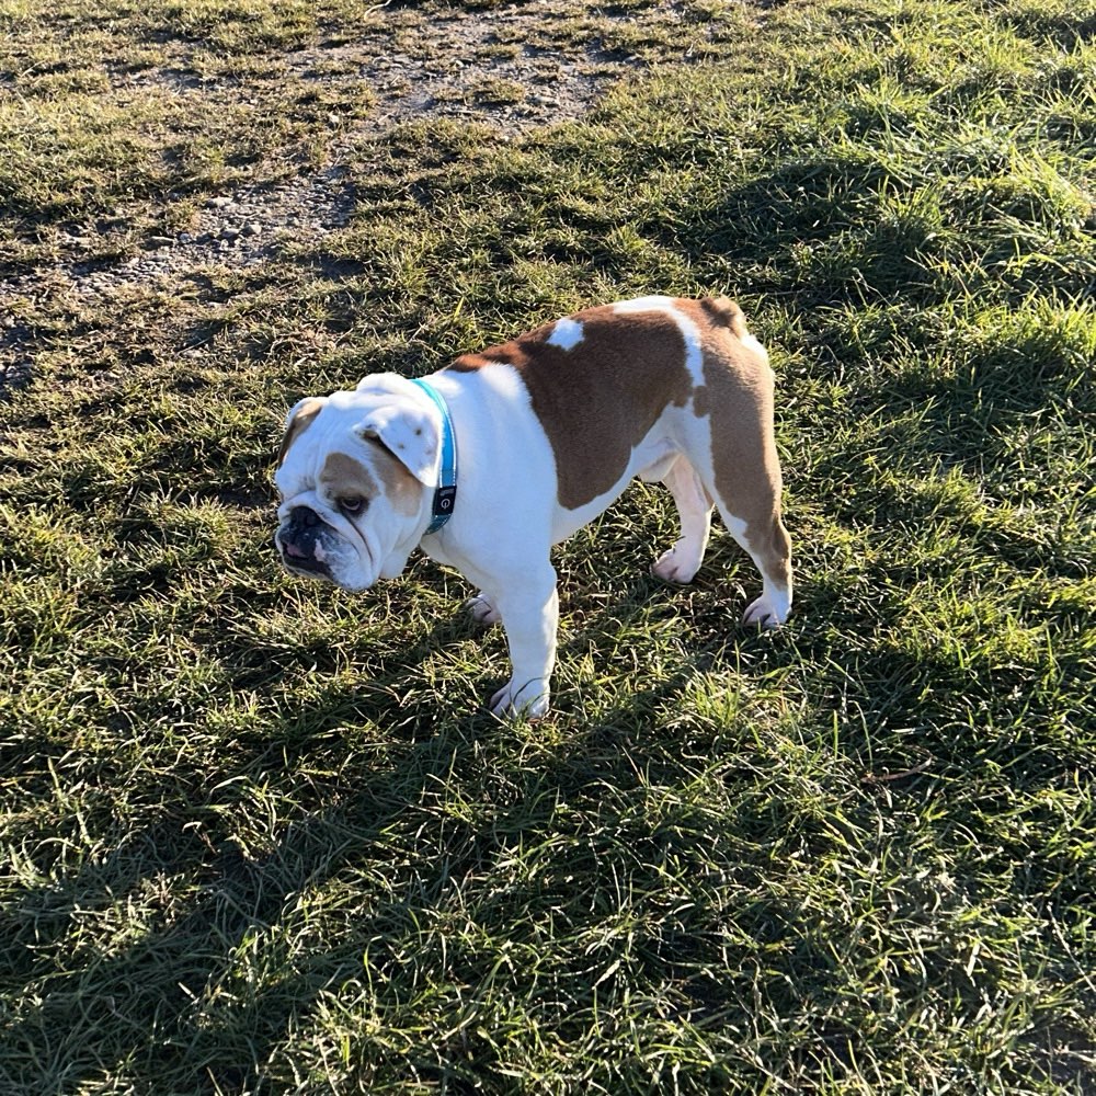
[[[576,510],[625,473],[638,445],[670,404],[692,393],[685,339],[661,311],[617,313],[610,306],[570,317],[582,324],[571,350],[548,343],[555,323],[449,368],[513,366],[525,383],[556,457],[560,505]]]

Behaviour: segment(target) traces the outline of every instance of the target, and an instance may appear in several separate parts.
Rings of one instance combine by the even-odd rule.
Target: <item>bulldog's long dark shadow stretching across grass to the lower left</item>
[[[735,581],[733,570],[717,563],[706,582],[719,583],[719,593],[701,585],[689,606],[681,604],[689,596],[682,589],[644,574],[607,576],[596,598],[569,595],[564,579],[562,676],[573,676],[593,652],[621,687],[587,719],[581,689],[564,685],[550,717],[563,733],[537,746],[535,764],[520,760],[507,745],[511,729],[482,706],[509,672],[501,629],[477,625],[463,608],[467,589],[457,591],[436,564],[416,566],[412,578],[458,596],[411,642],[368,652],[368,672],[361,675],[345,666],[328,675],[321,664],[308,675],[307,690],[300,676],[324,661],[317,658],[322,640],[273,671],[267,663],[264,683],[256,667],[274,648],[238,654],[226,669],[236,685],[265,692],[262,720],[224,740],[213,773],[206,754],[180,756],[155,818],[119,826],[110,848],[80,864],[43,866],[37,880],[13,895],[2,922],[13,972],[28,983],[48,977],[50,986],[39,1006],[12,1018],[5,1035],[22,1055],[23,1080],[41,1083],[41,1063],[64,1061],[66,1084],[78,1087],[101,1075],[104,1063],[124,1062],[138,1087],[155,1088],[159,1077],[201,1060],[209,1091],[262,1091],[263,1063],[285,1046],[286,1031],[308,1023],[333,987],[354,985],[363,955],[380,1006],[400,1007],[399,979],[389,974],[402,961],[400,941],[430,921],[423,911],[445,911],[466,879],[491,871],[523,833],[551,830],[561,797],[581,806],[600,800],[605,788],[630,787],[637,754],[658,754],[644,769],[665,764],[666,779],[673,778],[672,753],[649,749],[646,737],[655,733],[657,712],[680,703],[695,675],[718,664],[734,624],[724,617],[722,593]],[[698,605],[699,637],[689,617]],[[628,674],[620,652],[600,648],[607,635],[626,636],[651,614],[680,618],[683,633],[693,629],[688,657],[678,653],[657,675]],[[431,664],[449,644],[469,642],[478,648],[471,673],[464,655],[452,675],[448,663]],[[230,650],[238,649],[233,641]],[[353,644],[339,659],[347,654],[353,658]],[[484,750],[494,755],[488,785],[480,780]],[[267,774],[282,786],[279,814],[256,834],[254,820],[264,815],[255,810],[256,796],[265,795]],[[477,811],[449,810],[453,788],[471,797]],[[625,824],[626,802],[600,809],[619,813]],[[488,827],[484,815],[493,819]],[[338,882],[344,872],[350,880],[361,872],[383,880],[375,902],[336,923],[315,954],[294,950],[302,897],[332,881],[345,886]],[[62,959],[78,911],[110,911],[129,894],[140,905],[172,880],[162,909],[146,903],[157,912],[140,933],[102,954]],[[491,901],[512,913],[506,892]],[[283,973],[237,992],[253,951]],[[420,961],[441,960],[427,948]],[[65,1032],[64,1047],[52,1041],[57,1032]],[[430,1069],[461,1091],[459,1063]]]

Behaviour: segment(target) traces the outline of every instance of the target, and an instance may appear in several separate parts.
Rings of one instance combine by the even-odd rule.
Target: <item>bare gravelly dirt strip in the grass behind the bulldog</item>
[[[566,5],[564,5],[566,7]],[[240,270],[275,260],[287,243],[315,244],[344,226],[353,205],[347,162],[393,126],[419,119],[478,122],[509,140],[537,127],[581,117],[623,76],[652,57],[627,43],[649,41],[644,22],[680,23],[675,4],[639,14],[533,2],[491,13],[450,9],[441,15],[398,9],[391,25],[372,24],[359,41],[331,38],[278,58],[287,80],[313,84],[322,94],[353,88],[369,98],[366,116],[332,111],[324,119],[322,152],[315,165],[284,179],[285,161],[252,172],[255,182],[205,199],[185,230],[150,235],[140,250],[121,258],[104,247],[111,226],[102,219],[59,233],[64,258],[33,273],[0,279],[0,298],[42,299],[71,293],[104,302],[126,284],[174,284],[209,267]],[[174,49],[160,68],[114,71],[115,84],[157,83],[191,95],[210,87]],[[216,84],[215,84],[216,87]],[[247,81],[221,78],[220,90],[247,96]],[[339,95],[331,96],[339,99]],[[345,96],[343,96],[345,98]],[[132,246],[132,244],[130,244]],[[102,254],[106,252],[106,255]],[[16,312],[0,311],[0,393],[31,375],[28,329]]]

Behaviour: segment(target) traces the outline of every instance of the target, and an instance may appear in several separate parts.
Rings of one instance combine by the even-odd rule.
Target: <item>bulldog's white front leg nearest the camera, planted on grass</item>
[[[494,600],[506,631],[512,676],[491,698],[491,710],[496,716],[539,719],[548,710],[549,680],[556,664],[556,572],[549,566],[523,575],[522,583]]]

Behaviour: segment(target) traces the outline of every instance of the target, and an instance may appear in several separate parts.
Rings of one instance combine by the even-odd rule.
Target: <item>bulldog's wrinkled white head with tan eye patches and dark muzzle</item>
[[[367,590],[395,579],[429,524],[439,419],[395,374],[301,400],[286,420],[274,541],[294,574]]]

